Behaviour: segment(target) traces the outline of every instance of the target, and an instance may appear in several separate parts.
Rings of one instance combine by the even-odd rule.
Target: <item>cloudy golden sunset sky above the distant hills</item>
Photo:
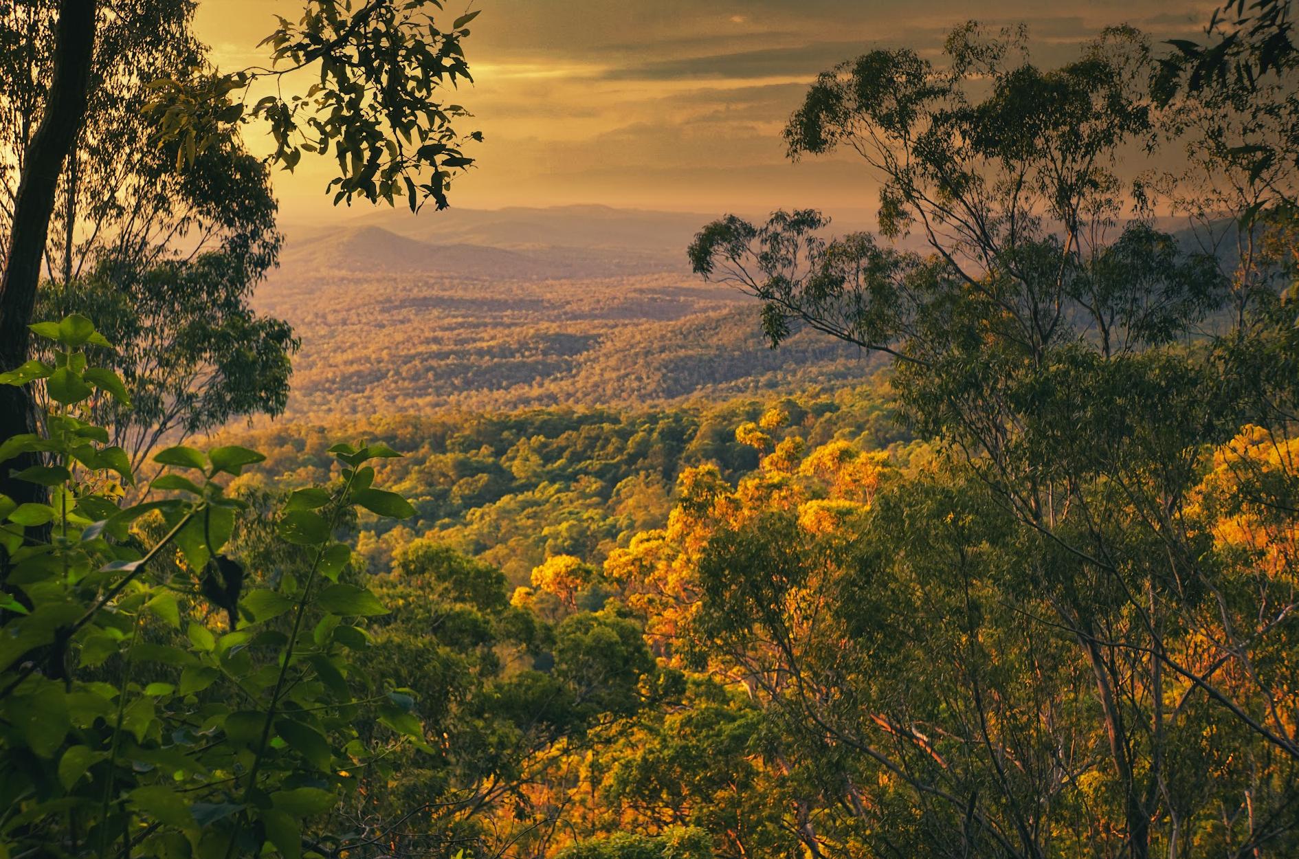
[[[1102,27],[1155,39],[1196,32],[1216,5],[1187,0],[447,0],[466,10],[475,82],[464,104],[485,142],[452,205],[605,204],[720,213],[778,207],[873,211],[874,183],[847,155],[791,162],[781,129],[817,73],[879,47],[937,56],[953,26],[1024,22],[1040,65]],[[265,61],[256,44],[301,0],[200,0],[196,29],[223,70]],[[305,79],[305,78],[304,78]],[[309,81],[301,84],[309,86]],[[249,148],[265,143],[249,130]],[[331,222],[330,162],[277,173],[287,222]],[[364,208],[360,207],[360,208]]]

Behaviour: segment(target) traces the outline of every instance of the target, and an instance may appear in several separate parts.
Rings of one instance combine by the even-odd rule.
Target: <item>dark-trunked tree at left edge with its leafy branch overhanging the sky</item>
[[[330,182],[335,203],[353,196],[391,203],[405,195],[412,209],[430,198],[442,208],[449,174],[469,166],[472,159],[460,151],[461,135],[453,125],[466,116],[464,108],[440,103],[438,94],[469,77],[460,39],[477,13],[439,29],[422,14],[422,5],[369,0],[353,9],[338,0],[309,0],[299,22],[282,18],[266,40],[273,68],[212,74],[197,66],[147,82],[157,92],[144,108],[153,139],[173,147],[183,165],[227,146],[233,127],[265,121],[277,142],[274,162],[292,169],[303,152],[335,157],[339,175]],[[27,324],[58,178],[86,125],[96,48],[120,17],[108,0],[51,0],[42,13],[56,16],[52,84],[43,101],[32,99],[19,109],[35,131],[18,170],[0,281],[0,368],[5,369],[27,357]],[[134,16],[134,6],[125,14]],[[27,38],[26,31],[5,35],[8,42]],[[303,70],[320,75],[310,96],[270,95],[244,104],[255,82]],[[478,138],[477,133],[469,136]],[[421,172],[429,175],[421,178]],[[4,396],[0,438],[9,438],[30,429],[32,415],[23,389],[6,387]],[[14,498],[32,496],[30,486],[8,477],[0,478],[0,490]]]

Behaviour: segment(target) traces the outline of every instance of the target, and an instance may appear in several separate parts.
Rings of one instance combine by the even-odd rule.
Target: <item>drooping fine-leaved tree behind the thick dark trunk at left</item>
[[[95,357],[123,376],[132,408],[110,399],[99,422],[143,464],[157,438],[177,441],[235,415],[277,413],[296,348],[288,326],[248,308],[252,288],[275,263],[281,237],[266,165],[236,134],[177,165],[179,143],[158,146],[144,116],[153,81],[205,62],[192,35],[194,3],[170,0],[116,9],[100,31],[82,127],[58,185],[45,250],[40,314],[94,317],[118,346]],[[6,12],[0,127],[5,148],[30,144],[42,81],[52,66],[51,4]],[[9,166],[10,204],[22,159]],[[8,238],[8,213],[0,234]],[[42,355],[48,357],[48,355]]]

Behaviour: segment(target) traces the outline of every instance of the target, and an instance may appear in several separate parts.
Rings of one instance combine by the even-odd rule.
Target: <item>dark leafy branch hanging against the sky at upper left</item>
[[[231,126],[261,121],[275,142],[271,160],[284,169],[304,152],[335,159],[338,175],[327,186],[335,205],[353,198],[391,205],[404,195],[412,212],[427,199],[446,208],[452,174],[473,164],[462,140],[482,135],[461,135],[452,123],[469,112],[438,99],[443,88],[473,81],[460,43],[481,10],[439,26],[427,6],[440,10],[442,3],[368,0],[353,8],[312,0],[297,21],[277,16],[279,26],[261,43],[270,48],[270,68],[200,68],[151,82],[155,99],[145,110],[156,138],[175,146],[179,165]],[[283,78],[303,70],[318,82],[305,96],[282,95]],[[259,82],[271,91],[249,105]]]

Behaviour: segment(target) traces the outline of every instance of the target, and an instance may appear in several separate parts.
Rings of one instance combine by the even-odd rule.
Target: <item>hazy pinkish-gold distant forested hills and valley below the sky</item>
[[[290,417],[647,405],[859,379],[814,333],[778,351],[757,304],[701,283],[685,247],[708,216],[604,207],[385,212],[290,234],[257,309],[303,338]],[[425,240],[436,231],[438,242]],[[538,240],[569,244],[542,244]]]

